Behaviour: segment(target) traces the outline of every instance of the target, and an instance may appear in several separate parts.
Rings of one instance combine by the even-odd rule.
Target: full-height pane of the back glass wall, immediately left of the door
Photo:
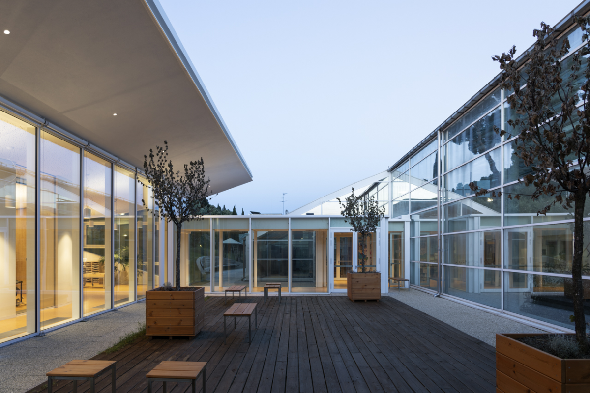
[[[327,292],[328,232],[291,232],[291,292]]]

